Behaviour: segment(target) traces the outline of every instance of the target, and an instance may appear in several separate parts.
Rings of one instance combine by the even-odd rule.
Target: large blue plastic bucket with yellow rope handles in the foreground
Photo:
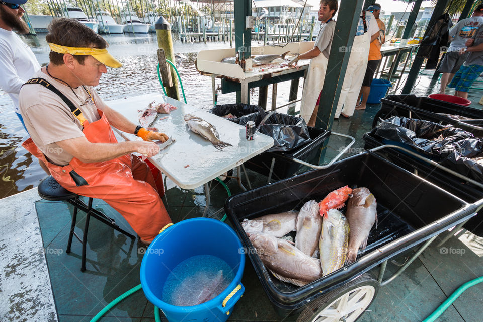
[[[199,305],[175,306],[162,301],[163,286],[170,272],[197,255],[212,255],[224,260],[236,272],[230,285],[215,298]],[[141,262],[141,285],[149,302],[170,322],[223,322],[245,291],[241,284],[244,267],[245,251],[232,228],[219,220],[193,218],[178,222],[154,238]]]

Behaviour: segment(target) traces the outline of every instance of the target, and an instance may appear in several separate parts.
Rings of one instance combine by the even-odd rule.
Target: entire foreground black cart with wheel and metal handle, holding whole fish
[[[225,211],[240,236],[267,296],[281,316],[300,313],[297,321],[355,321],[372,303],[383,286],[408,267],[431,242],[447,229],[459,225],[483,207],[483,200],[467,202],[446,190],[448,183],[431,183],[395,165],[382,156],[382,146],[333,163],[326,169],[306,172],[234,195]],[[405,153],[423,159],[447,176],[473,182],[409,150]],[[379,225],[373,227],[365,251],[357,260],[303,287],[276,279],[263,265],[240,222],[265,214],[300,209],[311,200],[321,200],[329,192],[349,185],[367,187],[376,196]],[[416,250],[392,276],[385,278],[387,261]],[[379,266],[377,279],[367,274]],[[326,318],[326,319],[324,319]]]

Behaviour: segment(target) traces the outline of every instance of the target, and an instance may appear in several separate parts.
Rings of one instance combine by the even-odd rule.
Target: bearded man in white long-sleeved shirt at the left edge
[[[25,128],[19,111],[19,92],[22,84],[40,70],[32,50],[14,32],[25,34],[29,27],[22,20],[24,10],[20,5],[27,0],[0,0],[0,89],[7,92],[14,102],[15,113]],[[25,129],[27,130],[27,129]]]

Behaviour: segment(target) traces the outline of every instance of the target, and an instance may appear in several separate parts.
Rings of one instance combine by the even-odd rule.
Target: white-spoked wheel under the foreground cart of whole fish
[[[307,305],[297,322],[354,322],[372,303],[379,283],[364,274]]]

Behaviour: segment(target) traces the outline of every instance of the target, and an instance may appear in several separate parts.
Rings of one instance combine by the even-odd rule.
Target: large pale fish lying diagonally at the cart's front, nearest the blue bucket
[[[281,281],[303,286],[322,276],[320,261],[305,255],[285,239],[247,234],[263,264]]]

